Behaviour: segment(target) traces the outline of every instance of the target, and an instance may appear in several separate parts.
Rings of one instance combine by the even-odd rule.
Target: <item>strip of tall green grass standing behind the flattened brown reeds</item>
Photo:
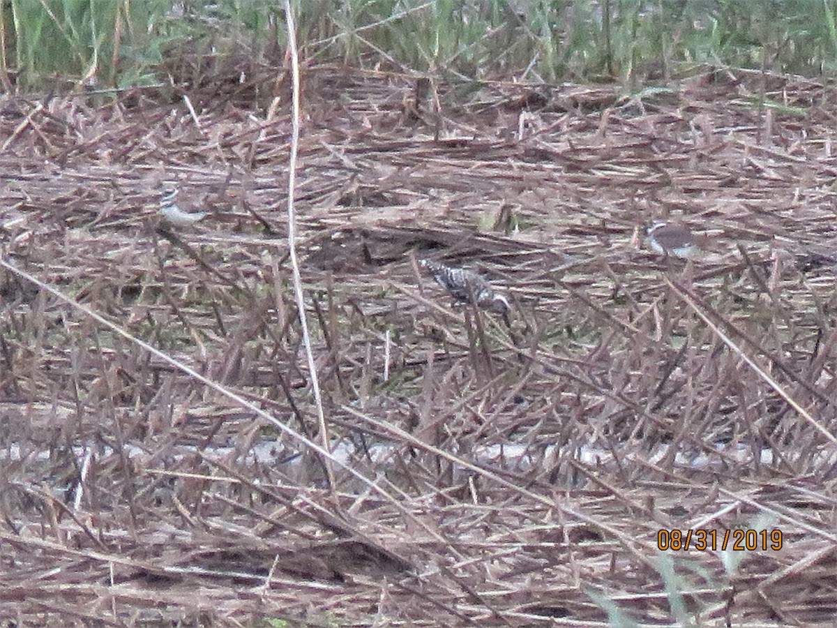
[[[7,88],[166,80],[166,60],[278,62],[282,3],[262,0],[7,0]],[[306,58],[459,80],[615,80],[633,88],[696,64],[829,75],[837,0],[294,0]]]

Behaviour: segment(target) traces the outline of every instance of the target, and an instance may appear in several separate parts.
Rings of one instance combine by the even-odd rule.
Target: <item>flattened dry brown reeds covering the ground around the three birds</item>
[[[298,247],[333,491],[300,445],[319,428],[287,107],[220,82],[182,88],[195,116],[151,92],[0,100],[3,259],[216,384],[0,271],[0,616],[830,620],[834,91],[305,80]],[[211,212],[198,227],[157,224],[172,180]],[[667,215],[713,238],[702,260],[639,247]],[[419,255],[505,288],[511,333],[450,309]],[[778,528],[783,548],[669,564],[671,528]]]

